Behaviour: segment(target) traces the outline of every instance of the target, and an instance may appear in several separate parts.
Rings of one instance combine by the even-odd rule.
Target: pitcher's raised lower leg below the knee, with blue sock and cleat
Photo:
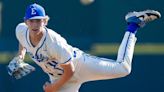
[[[135,34],[138,28],[143,27],[147,22],[160,18],[158,11],[146,10],[131,12],[125,17],[128,27],[118,51],[117,62],[126,61],[131,65],[135,44]]]

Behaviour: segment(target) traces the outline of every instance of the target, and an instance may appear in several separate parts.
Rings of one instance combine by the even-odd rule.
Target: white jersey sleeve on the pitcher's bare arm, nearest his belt
[[[67,63],[72,60],[73,51],[66,40],[60,35],[53,37],[50,45],[50,53],[59,63]]]

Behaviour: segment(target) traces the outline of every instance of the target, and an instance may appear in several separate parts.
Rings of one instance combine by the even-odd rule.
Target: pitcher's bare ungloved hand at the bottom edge
[[[57,92],[57,89],[55,88],[55,85],[54,84],[50,84],[48,82],[46,82],[43,85],[43,89],[44,89],[44,92]]]

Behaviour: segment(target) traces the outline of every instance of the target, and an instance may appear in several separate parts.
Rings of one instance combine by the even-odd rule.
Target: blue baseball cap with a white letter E
[[[42,6],[34,3],[27,7],[24,20],[44,18],[46,18],[46,13]]]

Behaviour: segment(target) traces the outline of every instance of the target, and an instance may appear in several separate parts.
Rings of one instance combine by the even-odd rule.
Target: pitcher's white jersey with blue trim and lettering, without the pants
[[[16,27],[16,37],[26,48],[32,60],[55,78],[64,72],[58,64],[73,61],[76,58],[78,49],[68,45],[64,38],[51,29],[45,28],[43,37],[35,47],[30,42],[29,30],[25,23],[20,23]]]

